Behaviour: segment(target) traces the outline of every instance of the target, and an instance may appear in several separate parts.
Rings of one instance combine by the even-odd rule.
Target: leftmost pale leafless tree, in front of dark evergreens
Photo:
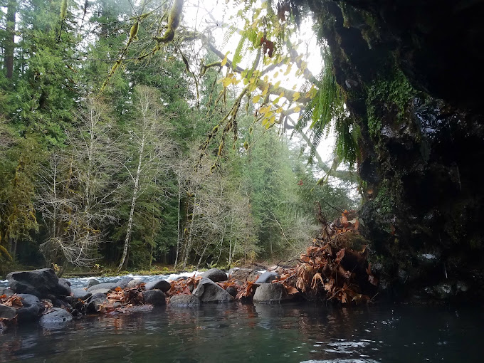
[[[96,261],[103,228],[116,221],[114,140],[105,106],[93,98],[79,111],[77,132],[57,149],[39,175],[38,209],[48,226],[41,245],[47,261],[78,266]]]

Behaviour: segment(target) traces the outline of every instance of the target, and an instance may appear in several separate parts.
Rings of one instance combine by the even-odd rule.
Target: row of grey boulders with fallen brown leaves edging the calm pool
[[[7,275],[9,288],[0,288],[0,331],[25,322],[56,327],[87,314],[121,314],[165,305],[196,307],[210,302],[235,302],[237,298],[249,300],[247,294],[241,293],[246,291],[248,282],[254,288],[254,301],[295,299],[295,294],[288,294],[281,283],[272,283],[280,278],[277,272],[240,268],[225,273],[211,269],[195,275],[148,283],[130,276],[114,283],[99,283],[93,278],[85,288],[75,288],[49,268],[12,272]]]

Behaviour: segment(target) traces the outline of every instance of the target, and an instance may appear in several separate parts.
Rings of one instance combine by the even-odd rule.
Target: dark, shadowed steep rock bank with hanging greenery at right
[[[396,298],[484,295],[484,4],[308,1],[359,127],[360,217]]]

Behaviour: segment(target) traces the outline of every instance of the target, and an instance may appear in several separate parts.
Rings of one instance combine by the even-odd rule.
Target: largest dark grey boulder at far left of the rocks
[[[59,279],[52,268],[33,271],[15,271],[6,275],[11,290],[17,294],[35,295],[43,298],[56,294]]]

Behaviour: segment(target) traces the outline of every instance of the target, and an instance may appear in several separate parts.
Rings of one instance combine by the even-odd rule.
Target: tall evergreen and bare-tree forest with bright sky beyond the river
[[[297,7],[219,2],[2,0],[0,274],[289,261],[357,208],[325,44],[312,75]]]

